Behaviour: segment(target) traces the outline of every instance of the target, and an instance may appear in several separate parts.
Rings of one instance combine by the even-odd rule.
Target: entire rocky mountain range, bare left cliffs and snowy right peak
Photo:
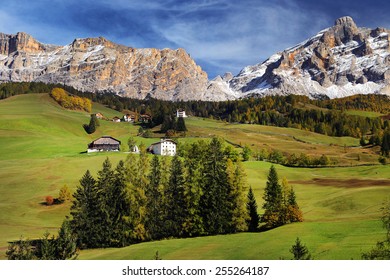
[[[0,33],[0,82],[63,83],[83,91],[164,100],[390,95],[389,35],[385,28],[359,28],[351,17],[342,17],[236,76],[226,73],[209,81],[183,49],[136,49],[103,37],[55,46],[23,32]]]

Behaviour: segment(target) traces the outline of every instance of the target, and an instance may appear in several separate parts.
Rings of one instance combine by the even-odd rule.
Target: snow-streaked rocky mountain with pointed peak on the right
[[[231,93],[241,97],[390,95],[389,35],[384,28],[358,28],[351,17],[342,17],[307,41],[245,67],[227,84]],[[214,87],[226,92],[226,83]]]

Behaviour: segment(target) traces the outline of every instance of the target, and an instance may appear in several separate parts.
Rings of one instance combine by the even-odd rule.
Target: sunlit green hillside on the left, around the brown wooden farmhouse
[[[116,111],[94,104],[104,115]],[[108,155],[113,163],[124,154],[85,154],[87,144],[101,135],[124,143],[136,127],[101,121],[93,135],[82,125],[89,114],[64,110],[48,94],[19,95],[0,101],[0,258],[7,241],[52,233],[69,212],[69,204],[46,207],[45,196],[58,196],[67,184],[75,189],[86,169],[95,172]]]

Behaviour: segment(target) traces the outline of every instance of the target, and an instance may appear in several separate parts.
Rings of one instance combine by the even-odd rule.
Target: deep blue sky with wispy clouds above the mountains
[[[351,16],[390,28],[388,0],[0,0],[0,32],[66,45],[103,36],[134,48],[184,48],[210,79],[294,46]]]

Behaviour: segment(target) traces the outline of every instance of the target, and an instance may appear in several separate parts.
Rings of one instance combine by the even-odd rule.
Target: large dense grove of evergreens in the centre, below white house
[[[95,179],[87,170],[71,207],[81,248],[248,229],[246,175],[223,141],[193,143],[184,157],[149,160],[144,147]]]

